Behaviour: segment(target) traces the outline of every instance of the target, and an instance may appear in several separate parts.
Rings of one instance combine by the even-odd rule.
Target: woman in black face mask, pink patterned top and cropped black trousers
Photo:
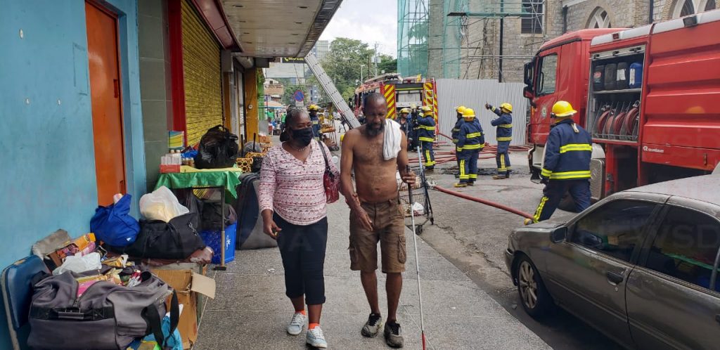
[[[312,121],[307,113],[290,109],[285,121],[287,127],[280,135],[282,143],[270,148],[264,158],[258,202],[264,232],[277,240],[285,269],[285,295],[294,308],[287,333],[300,334],[307,318],[305,341],[310,346],[326,348],[328,343],[320,329],[328,241],[325,164],[336,176],[340,174],[328,157],[327,146],[313,139]]]

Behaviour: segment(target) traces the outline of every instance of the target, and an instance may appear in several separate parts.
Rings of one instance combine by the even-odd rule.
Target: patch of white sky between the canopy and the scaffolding
[[[397,56],[397,1],[343,0],[320,40],[336,37],[361,40],[371,48],[379,42],[380,53]]]

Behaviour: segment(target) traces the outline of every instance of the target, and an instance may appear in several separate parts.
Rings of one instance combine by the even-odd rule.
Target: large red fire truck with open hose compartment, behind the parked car
[[[593,199],[708,174],[720,162],[720,10],[629,30],[572,32],[525,66],[537,179],[559,100],[593,135]]]

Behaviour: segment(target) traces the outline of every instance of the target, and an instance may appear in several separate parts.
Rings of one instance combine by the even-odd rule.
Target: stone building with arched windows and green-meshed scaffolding
[[[512,13],[502,20],[500,4]],[[566,32],[640,27],[719,8],[720,0],[405,0],[398,68],[435,78],[497,79],[502,72],[503,81],[520,82],[524,63]]]

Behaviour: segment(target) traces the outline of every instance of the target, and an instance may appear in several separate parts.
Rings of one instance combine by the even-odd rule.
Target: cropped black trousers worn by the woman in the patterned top
[[[328,245],[328,218],[311,225],[293,225],[277,214],[273,220],[282,229],[277,245],[285,269],[285,295],[305,295],[307,305],[325,303],[325,248]]]

